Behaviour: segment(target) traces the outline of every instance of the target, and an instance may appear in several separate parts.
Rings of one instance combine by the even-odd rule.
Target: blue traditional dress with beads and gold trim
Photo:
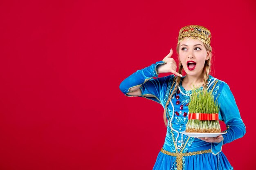
[[[166,108],[166,138],[153,170],[233,170],[221,151],[222,145],[243,137],[246,130],[229,86],[209,75],[207,90],[212,92],[214,99],[220,104],[219,120],[227,125],[226,133],[222,135],[223,140],[220,143],[209,143],[188,137],[180,132],[186,130],[191,91],[186,91],[180,83],[170,102],[167,102],[176,83],[175,76],[153,79],[158,77],[157,66],[164,63],[156,62],[138,70],[120,84],[120,89],[126,96],[129,96],[127,93],[130,88],[141,85],[140,97],[151,99]]]

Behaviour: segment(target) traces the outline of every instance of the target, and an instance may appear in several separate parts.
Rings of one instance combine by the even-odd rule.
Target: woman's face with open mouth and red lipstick
[[[201,40],[185,37],[180,42],[179,60],[187,75],[200,76],[210,55]]]

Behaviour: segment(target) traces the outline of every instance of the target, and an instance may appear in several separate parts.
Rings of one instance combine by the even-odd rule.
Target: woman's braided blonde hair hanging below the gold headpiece
[[[204,47],[207,51],[210,51],[210,57],[208,60],[205,61],[204,63],[204,80],[203,80],[203,88],[206,89],[207,88],[207,79],[209,78],[209,73],[211,72],[211,57],[212,57],[212,49],[211,49],[211,46],[204,44]],[[180,44],[177,44],[177,47],[176,47],[176,50],[177,50],[177,53],[179,55],[179,51],[180,51]],[[182,70],[183,70],[183,66],[181,64],[181,62],[179,62],[179,70],[178,70],[178,73],[182,75]],[[176,76],[176,83],[175,83],[175,86],[173,88],[173,92],[171,93],[171,95],[169,96],[167,102],[166,102],[166,106],[165,106],[165,109],[164,109],[164,124],[165,126],[167,126],[167,120],[166,120],[166,108],[171,100],[171,97],[176,93],[177,91],[177,88],[178,88],[178,85],[180,84],[180,81],[181,81],[181,77],[180,76]]]

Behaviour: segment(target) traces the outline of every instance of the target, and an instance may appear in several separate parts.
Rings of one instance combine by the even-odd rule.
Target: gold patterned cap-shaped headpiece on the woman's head
[[[204,26],[199,25],[189,25],[184,26],[180,29],[178,44],[184,39],[184,37],[191,37],[192,39],[201,40],[203,43],[210,46],[211,43],[211,32]]]

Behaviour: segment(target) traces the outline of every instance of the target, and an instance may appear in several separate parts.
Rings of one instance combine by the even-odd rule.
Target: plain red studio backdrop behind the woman
[[[255,168],[253,0],[2,0],[0,21],[0,170],[152,169],[164,110],[119,84],[176,49],[190,24],[211,31],[211,75],[246,125],[222,150],[236,170]]]

